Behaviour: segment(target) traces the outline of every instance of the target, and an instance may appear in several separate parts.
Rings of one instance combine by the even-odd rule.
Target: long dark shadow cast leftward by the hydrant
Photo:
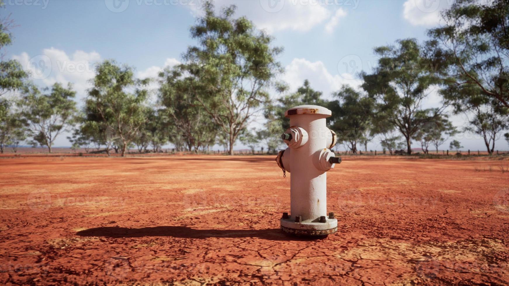
[[[166,227],[146,227],[146,228],[123,228],[123,227],[101,227],[82,230],[76,233],[79,236],[86,237],[112,237],[112,238],[132,238],[132,237],[156,237],[168,236],[177,238],[205,239],[209,237],[224,238],[249,238],[256,237],[267,240],[297,240],[308,241],[323,239],[319,237],[296,237],[282,232],[280,229],[266,230],[199,230],[185,226],[166,226]]]

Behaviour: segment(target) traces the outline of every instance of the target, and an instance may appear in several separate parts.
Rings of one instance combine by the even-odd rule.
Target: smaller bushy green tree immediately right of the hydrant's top
[[[346,85],[335,92],[334,97],[337,100],[329,103],[331,129],[337,135],[337,142],[346,144],[356,154],[357,144],[367,140],[366,134],[372,126],[374,99]]]

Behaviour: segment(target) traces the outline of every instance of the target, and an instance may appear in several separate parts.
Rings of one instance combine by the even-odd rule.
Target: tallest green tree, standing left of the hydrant
[[[211,1],[205,15],[191,27],[199,45],[188,48],[186,70],[198,83],[196,97],[204,110],[228,137],[228,151],[253,116],[269,101],[268,87],[282,72],[272,38],[245,17],[234,18],[236,7],[214,13]]]

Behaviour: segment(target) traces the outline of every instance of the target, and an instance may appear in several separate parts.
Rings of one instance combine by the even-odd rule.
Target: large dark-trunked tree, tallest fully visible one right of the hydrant
[[[422,106],[439,80],[415,39],[398,40],[396,45],[377,47],[374,51],[379,57],[378,65],[372,74],[361,74],[362,88],[376,99],[377,116],[385,118],[403,135],[410,154],[415,133],[446,107]]]

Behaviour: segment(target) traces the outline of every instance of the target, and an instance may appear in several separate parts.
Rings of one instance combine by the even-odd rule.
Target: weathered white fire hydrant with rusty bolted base
[[[281,135],[288,145],[276,162],[290,176],[290,215],[284,212],[281,230],[296,235],[328,235],[337,231],[333,212],[327,214],[327,171],[341,163],[330,148],[336,134],[326,127],[327,108],[300,105],[285,112],[290,128]]]

